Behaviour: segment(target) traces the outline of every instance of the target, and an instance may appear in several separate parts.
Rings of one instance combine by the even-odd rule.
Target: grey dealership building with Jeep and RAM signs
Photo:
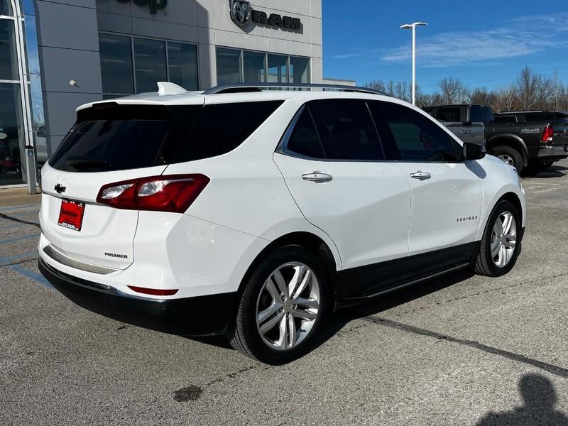
[[[322,1],[0,0],[0,187],[33,185],[79,105],[158,81],[324,82]]]

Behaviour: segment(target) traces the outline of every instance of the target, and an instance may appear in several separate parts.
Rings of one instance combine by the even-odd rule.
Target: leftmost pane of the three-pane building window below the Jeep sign
[[[103,93],[133,94],[131,38],[99,34]]]

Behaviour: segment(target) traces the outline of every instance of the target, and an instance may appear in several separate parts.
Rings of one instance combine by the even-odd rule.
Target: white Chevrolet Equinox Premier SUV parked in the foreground
[[[518,173],[420,109],[354,87],[158,86],[77,109],[42,169],[40,271],[77,304],[279,363],[342,305],[513,268]]]

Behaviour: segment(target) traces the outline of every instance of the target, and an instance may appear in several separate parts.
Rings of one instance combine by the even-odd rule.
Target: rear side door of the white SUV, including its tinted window
[[[336,244],[344,297],[400,280],[410,192],[403,171],[385,160],[366,102],[307,103],[274,160],[302,214]]]

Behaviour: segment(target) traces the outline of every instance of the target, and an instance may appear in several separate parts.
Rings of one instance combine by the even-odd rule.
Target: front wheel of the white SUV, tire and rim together
[[[508,222],[510,218],[513,222]],[[508,273],[517,261],[522,236],[522,222],[515,205],[506,200],[498,202],[481,238],[475,272],[489,277]]]

